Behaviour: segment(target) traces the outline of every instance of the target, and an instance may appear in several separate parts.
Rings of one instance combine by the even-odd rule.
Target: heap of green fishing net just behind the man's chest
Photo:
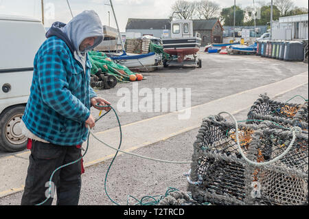
[[[128,83],[130,82],[130,76],[135,76],[137,74],[123,65],[115,64],[115,62],[113,62],[111,58],[108,58],[103,52],[89,51],[88,55],[92,65],[91,75],[95,75],[98,73],[99,69],[101,69],[102,73],[115,76],[117,82]]]

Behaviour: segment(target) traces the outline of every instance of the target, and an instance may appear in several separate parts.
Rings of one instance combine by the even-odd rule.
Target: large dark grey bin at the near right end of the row
[[[304,44],[297,41],[289,42],[286,45],[284,60],[302,61],[304,60]]]

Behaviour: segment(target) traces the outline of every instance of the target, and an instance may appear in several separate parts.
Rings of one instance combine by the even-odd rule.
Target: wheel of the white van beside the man
[[[0,115],[0,149],[7,152],[25,150],[27,138],[21,134],[21,117],[25,106],[6,108]]]

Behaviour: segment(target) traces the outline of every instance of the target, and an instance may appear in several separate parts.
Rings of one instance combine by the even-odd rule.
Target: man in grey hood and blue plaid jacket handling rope
[[[46,37],[34,58],[30,97],[21,122],[31,149],[21,205],[52,205],[49,178],[56,168],[81,158],[87,126],[95,126],[91,106],[111,105],[90,87],[87,51],[104,38],[98,14],[87,10],[67,24],[55,22]],[[54,174],[57,205],[78,205],[81,174],[82,161]]]

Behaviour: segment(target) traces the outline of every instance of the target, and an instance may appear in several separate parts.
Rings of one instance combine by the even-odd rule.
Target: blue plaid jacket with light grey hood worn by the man
[[[75,34],[86,33],[78,39],[79,43],[84,38],[98,36],[95,47],[103,39],[102,24],[94,11],[85,12],[87,14],[83,12],[83,16],[76,16],[67,25],[71,30],[78,28]],[[91,26],[87,29],[84,25]],[[46,34],[47,40],[36,53],[30,97],[22,119],[34,135],[45,141],[77,146],[87,140],[84,122],[90,115],[90,100],[96,94],[90,87],[91,62],[86,54],[84,71],[74,55],[79,48],[63,31],[64,27],[64,23],[54,23]]]

